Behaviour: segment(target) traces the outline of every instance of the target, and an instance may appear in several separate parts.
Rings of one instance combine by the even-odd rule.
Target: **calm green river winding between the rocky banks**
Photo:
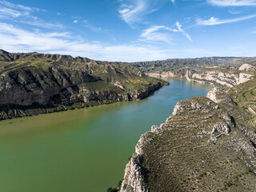
[[[142,101],[0,122],[0,192],[104,192],[122,180],[141,134],[210,86],[169,80]]]

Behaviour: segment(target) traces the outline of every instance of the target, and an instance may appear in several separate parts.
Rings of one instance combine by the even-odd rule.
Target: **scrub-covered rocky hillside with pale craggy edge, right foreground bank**
[[[138,141],[121,191],[254,191],[255,81],[178,102]]]

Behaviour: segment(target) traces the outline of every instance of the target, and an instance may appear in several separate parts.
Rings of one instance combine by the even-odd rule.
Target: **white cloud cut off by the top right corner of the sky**
[[[207,0],[214,6],[256,6],[256,0]]]

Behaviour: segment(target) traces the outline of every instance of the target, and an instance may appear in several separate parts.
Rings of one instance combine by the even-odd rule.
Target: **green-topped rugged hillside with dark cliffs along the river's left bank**
[[[128,63],[0,50],[0,119],[146,98],[164,85]]]

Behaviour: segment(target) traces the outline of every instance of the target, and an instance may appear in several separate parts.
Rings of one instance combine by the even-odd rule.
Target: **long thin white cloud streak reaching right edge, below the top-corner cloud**
[[[208,20],[202,20],[201,18],[197,19],[197,25],[198,26],[215,26],[215,25],[220,25],[220,24],[224,24],[224,23],[229,23],[229,22],[240,22],[246,19],[250,19],[250,18],[255,18],[256,14],[251,14],[245,17],[241,17],[241,18],[230,18],[230,19],[219,19],[219,18],[214,18],[211,17]]]

